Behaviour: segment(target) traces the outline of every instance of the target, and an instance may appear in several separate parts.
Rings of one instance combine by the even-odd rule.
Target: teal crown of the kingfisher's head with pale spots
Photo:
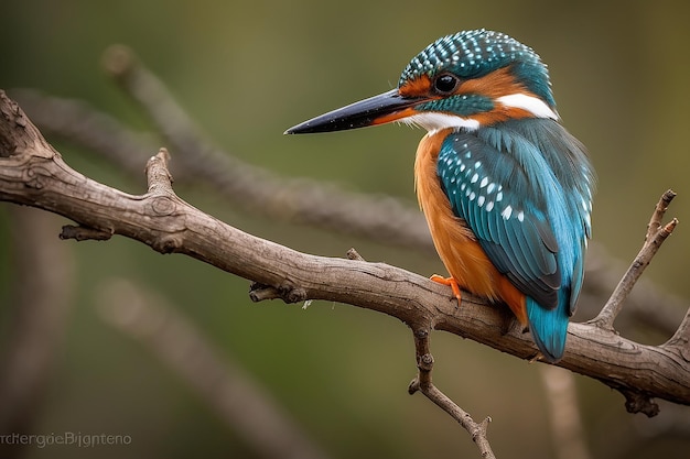
[[[535,51],[517,40],[485,29],[459,32],[436,40],[402,70],[398,86],[421,75],[451,72],[463,79],[478,78],[510,66],[516,79],[556,107],[549,72]]]

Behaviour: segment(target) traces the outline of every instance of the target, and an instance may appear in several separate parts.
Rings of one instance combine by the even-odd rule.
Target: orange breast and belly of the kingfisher
[[[441,261],[457,285],[490,300],[503,300],[522,324],[527,324],[525,295],[500,274],[465,221],[455,217],[441,188],[436,161],[450,130],[424,135],[417,149],[414,187],[431,238]]]

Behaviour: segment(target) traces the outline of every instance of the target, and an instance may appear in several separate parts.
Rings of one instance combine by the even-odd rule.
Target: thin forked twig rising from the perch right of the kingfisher
[[[659,199],[647,227],[647,236],[642,250],[623,275],[623,278],[611,294],[608,302],[606,302],[601,313],[594,319],[590,320],[590,324],[604,330],[614,331],[613,323],[623,309],[623,304],[628,294],[647,265],[651,262],[651,259],[656,255],[664,241],[673,232],[676,225],[678,225],[678,220],[675,218],[665,226],[660,223],[668,205],[675,196],[676,193],[669,189]]]

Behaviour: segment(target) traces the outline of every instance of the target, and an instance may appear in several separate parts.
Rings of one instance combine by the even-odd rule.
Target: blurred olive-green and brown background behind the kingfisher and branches
[[[101,66],[104,52],[123,44],[168,86],[213,144],[283,177],[390,195],[410,208],[416,206],[413,154],[422,131],[387,125],[313,136],[282,132],[395,87],[408,61],[439,36],[475,28],[506,32],[548,63],[563,122],[590,150],[599,175],[595,243],[629,262],[661,193],[673,188],[679,194],[669,215],[680,226],[645,277],[690,297],[686,3],[24,0],[4,2],[0,11],[0,88],[11,97],[18,88],[32,88],[78,99],[149,132],[149,118]],[[68,139],[46,136],[86,176],[131,194],[145,190],[143,162],[133,175]],[[170,146],[163,139],[153,145]],[[142,157],[154,153],[137,152]],[[171,154],[175,163],[172,149]],[[355,247],[370,261],[423,275],[443,272],[435,256],[418,251],[239,209],[203,183],[180,184],[175,190],[239,229],[297,250],[344,256]],[[43,369],[18,425],[30,434],[105,433],[131,441],[32,446],[13,455],[263,457],[161,357],[145,330],[131,326],[127,314],[122,317],[122,310],[137,313],[127,308],[136,303],[128,296],[134,283],[171,310],[158,313],[174,314],[193,327],[217,360],[270,394],[282,416],[328,457],[478,457],[470,436],[448,415],[422,395],[407,394],[414,350],[398,320],[324,302],[306,310],[282,302],[252,304],[248,281],[120,237],[60,242],[60,228],[69,221],[36,214],[42,212],[0,206],[0,352],[7,354],[26,338],[15,336],[17,324],[45,318],[22,318],[15,308],[26,295],[31,302],[21,293],[31,286],[22,283],[36,264],[50,267],[62,295],[45,329],[34,329],[53,339],[50,352],[18,358],[28,371]],[[29,239],[34,232],[37,240],[54,243],[26,261],[24,254],[39,244]],[[678,314],[682,317],[683,310]],[[636,327],[623,335],[650,345],[670,336]],[[432,336],[432,352],[439,387],[476,420],[493,418],[489,440],[497,457],[556,457],[541,365],[440,332]],[[183,364],[200,358],[169,357]],[[589,455],[579,457],[687,457],[688,408],[664,404],[657,418],[647,419],[627,414],[621,394],[596,381],[575,376],[574,384],[583,453]]]

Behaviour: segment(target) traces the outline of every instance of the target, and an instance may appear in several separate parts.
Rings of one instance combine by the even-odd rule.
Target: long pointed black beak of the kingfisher
[[[304,121],[288,129],[285,134],[344,131],[384,124],[414,114],[412,107],[421,101],[420,98],[400,96],[398,89],[392,89]]]

